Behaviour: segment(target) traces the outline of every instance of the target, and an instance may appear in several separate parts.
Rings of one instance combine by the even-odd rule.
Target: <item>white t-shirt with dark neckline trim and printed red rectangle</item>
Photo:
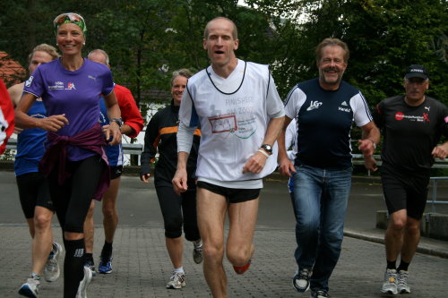
[[[228,78],[209,66],[188,80],[179,110],[177,150],[189,152],[179,139],[200,124],[198,180],[231,188],[261,188],[261,179],[277,166],[277,144],[260,174],[243,174],[243,166],[263,144],[271,118],[283,115],[283,103],[266,65],[238,60]]]

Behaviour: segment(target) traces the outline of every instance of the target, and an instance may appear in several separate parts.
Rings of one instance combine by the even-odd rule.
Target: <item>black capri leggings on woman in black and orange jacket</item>
[[[165,236],[177,238],[182,235],[184,224],[185,239],[196,241],[200,238],[196,219],[196,189],[188,188],[179,197],[173,190],[173,185],[156,183],[157,197],[162,210]]]

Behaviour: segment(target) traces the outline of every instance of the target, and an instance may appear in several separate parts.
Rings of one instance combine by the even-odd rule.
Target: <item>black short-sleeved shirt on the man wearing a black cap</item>
[[[428,96],[420,106],[409,106],[404,96],[383,99],[374,120],[383,133],[383,163],[405,171],[429,170],[431,152],[448,135],[447,107]]]

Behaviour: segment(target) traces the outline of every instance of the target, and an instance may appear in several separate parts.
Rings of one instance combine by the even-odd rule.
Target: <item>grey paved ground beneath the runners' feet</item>
[[[0,297],[19,297],[17,290],[30,274],[30,234],[20,207],[13,172],[0,171]],[[440,188],[446,198],[448,188]],[[98,205],[99,206],[99,205]],[[355,179],[349,199],[340,261],[330,279],[332,297],[388,297],[381,294],[385,267],[383,230],[375,229],[375,211],[384,209],[381,184]],[[446,212],[446,207],[437,207]],[[94,277],[89,297],[211,297],[202,276],[202,266],[194,264],[193,245],[185,242],[186,286],[165,288],[171,264],[165,247],[162,217],[153,183],[141,183],[136,176],[123,176],[118,198],[119,225],[114,242],[114,272]],[[104,243],[100,208],[95,213],[94,258],[98,262]],[[57,242],[62,243],[56,217]],[[255,229],[256,251],[251,268],[243,275],[224,266],[228,274],[228,297],[309,297],[291,285],[296,270],[295,220],[286,181],[271,175],[264,183]],[[448,280],[448,242],[422,238],[409,267],[411,297],[444,297]],[[444,256],[444,258],[435,255]],[[61,262],[62,266],[62,262]],[[62,297],[63,278],[41,283],[39,297]]]

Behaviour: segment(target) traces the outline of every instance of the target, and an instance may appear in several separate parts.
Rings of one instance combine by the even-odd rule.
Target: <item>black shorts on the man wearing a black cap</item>
[[[389,214],[406,209],[409,217],[420,219],[426,207],[429,172],[405,173],[382,166],[384,200]]]

